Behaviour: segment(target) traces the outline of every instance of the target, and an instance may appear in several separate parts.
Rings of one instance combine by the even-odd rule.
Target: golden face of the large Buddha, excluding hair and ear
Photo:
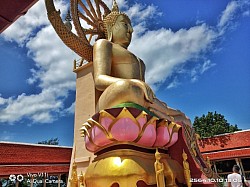
[[[132,38],[132,32],[130,20],[124,15],[119,15],[112,28],[112,42],[127,48]]]

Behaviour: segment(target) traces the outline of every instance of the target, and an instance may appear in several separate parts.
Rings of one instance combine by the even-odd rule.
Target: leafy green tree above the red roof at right
[[[214,135],[230,133],[241,130],[237,125],[230,125],[225,117],[216,111],[208,112],[207,115],[195,117],[193,128],[201,138],[213,137]]]

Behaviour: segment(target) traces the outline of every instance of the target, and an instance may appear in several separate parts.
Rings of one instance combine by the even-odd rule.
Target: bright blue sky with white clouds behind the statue
[[[111,1],[106,1],[108,5]],[[119,0],[129,47],[158,98],[193,121],[217,111],[250,126],[250,0]],[[57,2],[62,15],[67,3]],[[0,35],[0,141],[73,142],[78,59],[49,24],[43,1]]]

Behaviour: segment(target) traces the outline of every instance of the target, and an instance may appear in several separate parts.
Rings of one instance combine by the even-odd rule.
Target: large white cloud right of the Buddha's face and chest
[[[162,28],[135,36],[130,49],[144,58],[146,81],[153,85],[164,82],[176,66],[208,50],[216,37],[216,32],[206,24],[177,32]]]

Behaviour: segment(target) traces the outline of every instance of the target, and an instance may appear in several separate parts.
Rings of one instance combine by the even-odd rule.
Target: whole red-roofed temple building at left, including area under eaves
[[[0,141],[0,182],[2,186],[66,184],[71,152],[65,146]]]

